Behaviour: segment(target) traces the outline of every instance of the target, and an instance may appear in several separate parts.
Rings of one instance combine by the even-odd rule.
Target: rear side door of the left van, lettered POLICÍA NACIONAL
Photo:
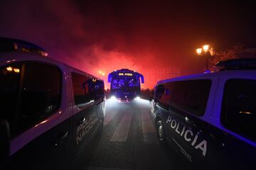
[[[95,100],[92,95],[92,79],[72,72],[73,87],[73,152],[75,159],[86,155],[87,144],[92,132],[95,130],[97,115],[95,113]]]

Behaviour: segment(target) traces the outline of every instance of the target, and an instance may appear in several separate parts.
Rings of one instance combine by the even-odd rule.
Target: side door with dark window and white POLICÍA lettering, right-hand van
[[[167,135],[171,146],[186,159],[186,167],[191,169],[203,169],[206,160],[208,126],[200,117],[206,110],[210,84],[207,79],[169,84]]]

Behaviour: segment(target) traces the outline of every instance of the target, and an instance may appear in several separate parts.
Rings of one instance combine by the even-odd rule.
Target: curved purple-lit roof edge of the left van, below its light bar
[[[42,55],[39,55],[37,53],[31,53],[31,52],[20,52],[20,51],[10,51],[10,52],[0,52],[0,66],[3,66],[5,64],[11,64],[13,62],[47,62],[50,64],[55,64],[58,67],[68,67],[72,71],[80,72],[81,74],[85,74],[88,77],[91,77],[93,79],[99,79],[92,74],[88,74],[87,72],[84,72],[80,69],[76,69],[75,67],[71,67],[68,64],[65,64],[63,62],[59,62],[58,60],[54,60],[50,57],[43,57]],[[103,81],[103,80],[102,80]]]

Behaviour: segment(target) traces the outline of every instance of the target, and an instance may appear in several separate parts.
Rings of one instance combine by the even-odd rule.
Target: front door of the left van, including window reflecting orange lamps
[[[25,62],[1,67],[0,72],[1,108],[8,114],[12,138],[8,169],[66,166],[70,119],[61,70],[52,64]]]

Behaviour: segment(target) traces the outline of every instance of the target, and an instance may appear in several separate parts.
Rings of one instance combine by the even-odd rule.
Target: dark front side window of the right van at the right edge
[[[225,83],[221,123],[256,141],[256,80],[229,79]]]

